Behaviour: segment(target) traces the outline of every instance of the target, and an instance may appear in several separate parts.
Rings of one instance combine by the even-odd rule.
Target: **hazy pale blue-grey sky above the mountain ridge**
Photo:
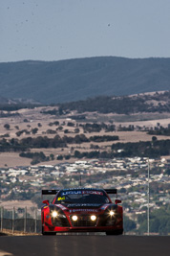
[[[170,57],[170,0],[0,0],[0,62]]]

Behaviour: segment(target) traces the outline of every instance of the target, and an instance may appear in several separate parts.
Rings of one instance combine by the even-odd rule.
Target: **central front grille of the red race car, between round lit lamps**
[[[77,221],[73,221],[72,220],[72,216],[70,216],[71,222],[73,226],[96,226],[96,221],[92,221],[91,220],[91,216],[90,215],[78,215],[78,220]]]

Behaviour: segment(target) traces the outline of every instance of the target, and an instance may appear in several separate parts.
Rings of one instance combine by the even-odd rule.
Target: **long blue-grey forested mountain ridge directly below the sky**
[[[0,96],[57,104],[170,89],[170,58],[76,58],[0,63]]]

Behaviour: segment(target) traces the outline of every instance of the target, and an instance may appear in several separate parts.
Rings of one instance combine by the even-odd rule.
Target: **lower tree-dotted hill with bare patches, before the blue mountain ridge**
[[[117,114],[134,114],[134,113],[170,113],[170,91],[141,93],[130,96],[97,96],[84,101],[77,101],[65,104],[58,104],[58,109],[53,108],[45,111],[45,114],[67,114],[76,110],[77,113],[86,112],[98,113],[117,113]],[[82,117],[80,115],[79,117]],[[77,118],[77,117],[76,117]]]

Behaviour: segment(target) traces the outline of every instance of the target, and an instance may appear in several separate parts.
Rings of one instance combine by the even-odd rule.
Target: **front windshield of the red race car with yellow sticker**
[[[55,203],[109,203],[109,198],[99,190],[61,191]]]

